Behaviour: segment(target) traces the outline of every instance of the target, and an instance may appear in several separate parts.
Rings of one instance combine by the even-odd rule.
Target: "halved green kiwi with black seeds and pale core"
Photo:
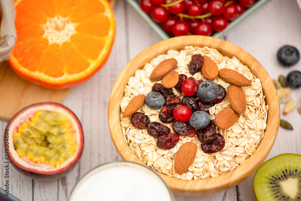
[[[301,155],[281,154],[264,162],[253,189],[258,201],[301,201]]]

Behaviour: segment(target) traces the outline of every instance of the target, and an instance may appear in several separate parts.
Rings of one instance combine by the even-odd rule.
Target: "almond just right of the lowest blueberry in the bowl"
[[[239,114],[231,107],[225,108],[217,113],[215,117],[215,124],[221,129],[228,129],[237,121],[238,118]]]

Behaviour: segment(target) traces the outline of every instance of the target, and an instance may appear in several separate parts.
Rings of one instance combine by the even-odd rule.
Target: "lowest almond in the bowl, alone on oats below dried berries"
[[[187,142],[183,144],[175,156],[175,172],[177,174],[183,174],[194,161],[197,154],[197,144],[193,142]]]

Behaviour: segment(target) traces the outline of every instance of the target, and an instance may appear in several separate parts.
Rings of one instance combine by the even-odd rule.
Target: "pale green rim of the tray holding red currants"
[[[170,38],[170,36],[160,27],[159,24],[154,22],[148,14],[146,14],[146,13],[144,13],[144,11],[142,11],[142,9],[140,8],[140,5],[139,5],[140,0],[126,0],[126,1],[129,2],[129,4],[132,5],[133,8],[135,8],[135,10],[144,18],[144,20],[147,21],[148,24],[151,25],[151,27],[153,27],[153,29],[159,34],[159,36],[163,40]],[[213,34],[212,36],[216,37],[216,38],[222,38],[229,30],[231,30],[234,26],[236,26],[238,23],[240,23],[242,20],[244,20],[244,18],[249,16],[253,11],[255,11],[257,8],[259,8],[260,6],[262,6],[263,4],[265,4],[268,1],[269,0],[260,0],[260,1],[256,2],[252,7],[248,8],[247,11],[245,11],[236,20],[233,20],[231,23],[229,23],[229,25],[227,26],[227,28],[225,28],[225,30],[223,30],[221,32],[217,32],[217,33]]]

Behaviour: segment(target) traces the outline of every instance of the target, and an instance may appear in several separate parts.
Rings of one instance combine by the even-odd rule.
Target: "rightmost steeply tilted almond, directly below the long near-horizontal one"
[[[247,99],[244,90],[240,86],[231,85],[227,90],[231,107],[239,114],[244,114],[247,108]]]

